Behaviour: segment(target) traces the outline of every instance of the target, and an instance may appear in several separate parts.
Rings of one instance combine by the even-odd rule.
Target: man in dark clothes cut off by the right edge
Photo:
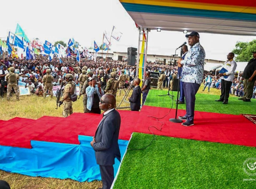
[[[253,58],[250,59],[247,66],[244,68],[242,77],[243,81],[243,91],[244,95],[239,100],[243,100],[244,102],[251,102],[251,98],[253,95],[253,86],[256,80],[256,51],[253,51]]]

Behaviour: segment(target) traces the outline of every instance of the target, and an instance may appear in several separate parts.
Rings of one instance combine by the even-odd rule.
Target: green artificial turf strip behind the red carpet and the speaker
[[[170,108],[173,103],[173,109],[176,108],[177,92],[170,91],[174,95],[173,100],[169,96],[157,96],[167,94],[166,90],[150,90],[148,93],[145,105]],[[222,102],[215,102],[220,98],[219,95],[196,94],[196,111],[206,111],[223,114],[256,114],[255,103],[256,99],[251,99],[252,102],[243,102],[237,97],[229,97],[228,104]],[[178,109],[186,110],[186,104],[178,104]]]

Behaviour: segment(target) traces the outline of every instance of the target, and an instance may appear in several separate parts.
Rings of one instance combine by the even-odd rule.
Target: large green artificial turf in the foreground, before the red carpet
[[[256,176],[243,163],[256,149],[156,136],[145,150],[127,150],[114,189],[255,189]],[[153,135],[133,133],[128,148],[142,148]]]

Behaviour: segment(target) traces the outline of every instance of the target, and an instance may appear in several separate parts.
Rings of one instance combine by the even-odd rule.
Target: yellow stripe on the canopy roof
[[[165,1],[154,1],[154,0],[120,0],[122,3],[134,3],[134,4],[144,4],[144,5],[154,5],[154,6],[165,6],[165,7],[179,7],[179,8],[192,8],[201,10],[214,10],[214,11],[227,11],[227,12],[237,12],[237,13],[256,13],[256,7],[246,7],[246,6],[234,6],[234,5],[224,5],[224,4],[209,4],[201,2],[192,1],[175,1],[175,0],[165,0]]]

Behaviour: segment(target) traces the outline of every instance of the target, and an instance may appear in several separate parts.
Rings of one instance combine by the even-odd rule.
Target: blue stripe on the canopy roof
[[[134,4],[134,3],[122,3],[122,6],[125,8],[126,11],[131,11],[131,12],[256,21],[256,14],[250,14],[250,13],[234,13],[234,12],[227,12],[227,11],[200,10],[200,9],[193,9],[193,8],[178,8],[178,7],[155,6],[155,5]]]

